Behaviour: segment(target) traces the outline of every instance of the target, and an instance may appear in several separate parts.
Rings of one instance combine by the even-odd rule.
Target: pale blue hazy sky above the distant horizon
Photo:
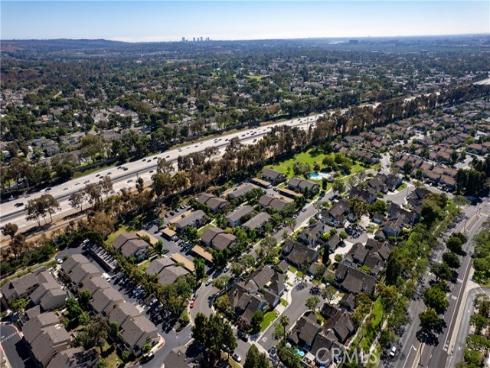
[[[124,41],[490,33],[490,1],[1,1],[1,38]]]

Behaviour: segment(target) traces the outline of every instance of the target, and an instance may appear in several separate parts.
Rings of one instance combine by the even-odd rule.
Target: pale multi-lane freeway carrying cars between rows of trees
[[[37,193],[31,193],[24,197],[12,199],[0,205],[0,227],[6,223],[14,223],[21,229],[26,229],[36,224],[35,220],[26,220],[25,205],[31,199],[37,198],[42,194],[49,193],[56,198],[60,204],[57,216],[65,216],[75,210],[69,204],[69,197],[72,193],[82,190],[85,185],[97,183],[104,176],[109,176],[113,183],[113,190],[119,191],[122,188],[134,187],[136,179],[141,177],[145,182],[149,182],[156,169],[159,158],[165,158],[174,163],[179,156],[184,156],[193,152],[201,152],[206,148],[215,147],[223,152],[228,143],[233,138],[238,138],[243,144],[254,144],[263,135],[267,134],[275,126],[296,126],[307,128],[314,124],[322,114],[311,115],[305,118],[297,118],[277,123],[272,123],[257,128],[241,130],[219,137],[190,143],[184,146],[170,149],[157,155],[149,156],[137,161],[128,162],[119,167],[111,167],[86,176],[72,179],[63,184],[44,189]]]

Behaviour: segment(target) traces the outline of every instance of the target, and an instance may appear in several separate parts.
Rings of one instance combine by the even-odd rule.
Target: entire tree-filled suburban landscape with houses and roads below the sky
[[[488,366],[488,36],[93,42],[2,42],[0,366]]]

